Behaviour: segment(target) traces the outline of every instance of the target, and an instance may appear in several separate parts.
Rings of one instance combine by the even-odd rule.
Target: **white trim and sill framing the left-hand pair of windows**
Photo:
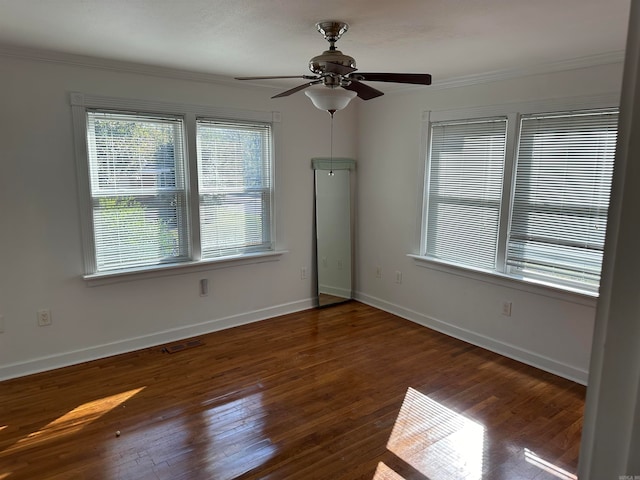
[[[192,271],[226,268],[235,265],[247,265],[275,261],[286,253],[278,243],[276,232],[276,205],[278,202],[277,189],[277,152],[280,151],[281,114],[280,112],[264,112],[219,108],[203,105],[129,99],[91,95],[71,92],[69,96],[74,131],[74,150],[76,157],[76,176],[78,186],[79,213],[82,233],[82,251],[84,272],[82,278],[88,285],[101,285],[125,280],[136,280],[156,276],[189,273]],[[86,111],[88,109],[114,110],[152,115],[172,115],[182,117],[185,128],[185,150],[187,169],[187,203],[189,205],[189,237],[191,238],[191,260],[177,263],[167,263],[147,267],[135,267],[107,272],[96,272],[95,239],[92,228],[93,212],[91,206],[91,191],[89,183],[89,164],[87,153]],[[273,205],[271,209],[270,227],[274,249],[271,251],[230,255],[215,259],[201,259],[200,227],[199,227],[199,195],[196,152],[196,120],[198,118],[216,118],[231,121],[248,121],[270,123],[272,125],[272,189]]]

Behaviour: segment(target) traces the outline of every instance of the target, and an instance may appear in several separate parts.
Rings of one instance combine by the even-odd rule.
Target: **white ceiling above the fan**
[[[630,0],[0,0],[0,52],[36,49],[225,77],[302,75],[328,46],[361,71],[439,82],[624,50]],[[576,63],[578,62],[578,63]],[[282,81],[282,85],[291,82]],[[300,83],[294,81],[294,83]]]

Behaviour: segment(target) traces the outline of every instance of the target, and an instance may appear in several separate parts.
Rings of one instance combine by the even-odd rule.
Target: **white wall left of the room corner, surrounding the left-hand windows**
[[[89,287],[83,273],[69,92],[282,113],[279,261]],[[312,305],[313,170],[329,115],[304,95],[0,56],[0,379],[164,343]],[[356,157],[355,106],[335,155]],[[198,282],[210,293],[200,297]],[[278,281],[272,281],[277,278]],[[53,324],[38,327],[50,308]]]

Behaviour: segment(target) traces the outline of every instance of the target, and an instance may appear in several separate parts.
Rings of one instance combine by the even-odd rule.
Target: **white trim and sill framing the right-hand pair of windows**
[[[552,284],[548,281],[538,281],[533,278],[523,278],[515,274],[503,273],[504,270],[504,249],[508,234],[508,219],[510,202],[514,193],[514,168],[515,157],[517,155],[517,129],[522,115],[543,114],[555,112],[571,112],[576,110],[598,110],[607,108],[619,108],[620,96],[617,93],[604,93],[600,95],[576,96],[555,99],[541,99],[528,102],[514,102],[498,105],[479,106],[471,108],[457,108],[450,110],[425,110],[421,116],[421,147],[420,147],[420,174],[418,193],[421,196],[421,211],[418,226],[420,227],[415,244],[416,251],[409,252],[408,256],[414,259],[416,265],[426,267],[431,270],[446,272],[452,275],[464,276],[488,283],[495,283],[500,286],[525,290],[531,293],[543,294],[563,300],[571,300],[580,304],[591,305],[591,299],[598,297],[597,292],[582,290],[568,285]],[[428,159],[431,144],[431,124],[443,121],[471,120],[490,117],[507,117],[507,144],[504,169],[504,184],[502,195],[501,219],[498,235],[498,259],[496,271],[481,270],[468,267],[453,262],[446,262],[424,255],[423,246],[426,244],[425,232],[428,212],[427,181],[428,181]],[[593,303],[595,305],[595,303]]]

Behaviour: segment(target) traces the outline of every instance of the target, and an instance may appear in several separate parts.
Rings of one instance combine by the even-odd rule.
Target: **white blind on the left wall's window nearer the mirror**
[[[197,152],[202,258],[271,250],[271,125],[200,119]]]

